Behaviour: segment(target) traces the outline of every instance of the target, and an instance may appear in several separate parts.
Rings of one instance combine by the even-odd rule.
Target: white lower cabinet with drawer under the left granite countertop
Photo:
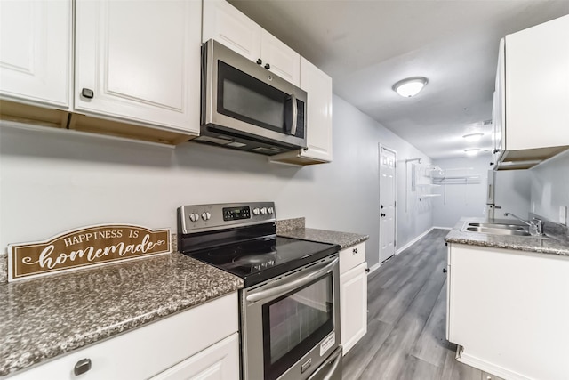
[[[237,294],[233,293],[3,379],[237,380],[237,329]],[[75,375],[75,368],[85,360],[91,368]]]

